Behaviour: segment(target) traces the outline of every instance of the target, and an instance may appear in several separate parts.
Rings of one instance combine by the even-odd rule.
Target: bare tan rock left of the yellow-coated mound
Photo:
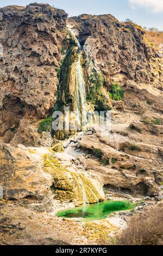
[[[51,198],[52,178],[26,147],[13,148],[0,142],[0,184],[4,199]]]

